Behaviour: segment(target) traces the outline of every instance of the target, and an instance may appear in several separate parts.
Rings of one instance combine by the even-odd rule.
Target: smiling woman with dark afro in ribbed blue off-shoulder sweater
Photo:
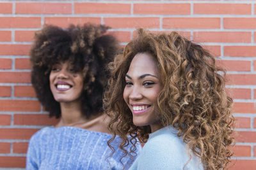
[[[105,67],[118,53],[118,41],[104,25],[47,25],[31,48],[31,81],[50,117],[60,118],[29,141],[26,169],[122,169],[131,159],[122,150],[111,157],[109,118],[102,114],[108,82]],[[120,139],[116,139],[120,141]],[[128,146],[128,145],[127,145]],[[130,147],[130,146],[128,146]],[[140,145],[137,146],[140,148]]]

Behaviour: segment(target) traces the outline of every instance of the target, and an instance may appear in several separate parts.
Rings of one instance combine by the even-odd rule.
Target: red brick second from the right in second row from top
[[[163,18],[163,28],[219,29],[220,18]]]

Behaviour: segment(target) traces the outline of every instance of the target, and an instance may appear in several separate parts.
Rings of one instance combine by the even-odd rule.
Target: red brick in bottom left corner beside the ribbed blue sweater
[[[26,157],[0,156],[0,167],[26,167]]]

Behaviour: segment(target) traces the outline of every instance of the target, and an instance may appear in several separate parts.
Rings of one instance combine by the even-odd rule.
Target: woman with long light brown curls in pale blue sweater
[[[124,157],[132,157],[137,138],[147,142],[130,169],[227,168],[232,99],[211,53],[177,32],[138,29],[109,67],[104,103],[112,140],[122,138]]]

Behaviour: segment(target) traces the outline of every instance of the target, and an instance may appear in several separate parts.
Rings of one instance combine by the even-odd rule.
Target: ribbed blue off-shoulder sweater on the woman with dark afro
[[[45,127],[29,141],[26,169],[123,169],[119,161],[122,157],[122,150],[118,148],[120,138],[112,144],[116,152],[108,157],[111,149],[107,142],[111,137],[111,134],[77,127]],[[140,152],[141,146],[136,147]],[[132,164],[129,157],[122,162],[125,169]]]

